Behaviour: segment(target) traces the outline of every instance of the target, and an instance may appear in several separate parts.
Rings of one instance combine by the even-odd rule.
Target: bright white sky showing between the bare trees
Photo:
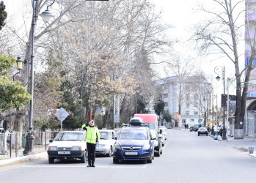
[[[19,18],[22,18],[21,12],[23,12],[23,8],[27,8],[30,10],[31,7],[24,7],[23,4],[30,2],[31,0],[3,0],[6,5],[6,10],[8,15],[15,13]],[[149,0],[153,4],[156,5],[157,10],[162,11],[162,19],[165,23],[168,23],[173,26],[173,28],[169,31],[169,37],[175,37],[180,40],[180,42],[185,42],[192,33],[193,25],[198,23],[202,18],[204,18],[200,12],[196,12],[198,1],[203,1],[209,7],[213,6],[211,4],[212,0]],[[201,2],[200,2],[201,3]],[[32,9],[32,8],[31,8]],[[22,19],[17,19],[17,24],[21,24],[23,22]],[[20,25],[21,26],[21,25]],[[29,28],[27,28],[29,29]],[[183,48],[183,43],[175,45],[175,49]],[[184,49],[184,48],[183,48]],[[193,49],[185,48],[186,52],[191,54],[194,53]],[[223,82],[215,81],[216,73],[214,72],[214,68],[218,66],[225,67],[225,75],[226,77],[233,77],[233,64],[231,66],[231,62],[224,61],[223,59],[210,61],[211,59],[199,59],[197,60],[198,70],[205,71],[205,74],[208,78],[210,78],[210,82],[213,83],[213,87],[216,88],[215,92],[223,93]],[[227,59],[226,59],[227,60]],[[230,89],[230,94],[234,94],[235,90]]]

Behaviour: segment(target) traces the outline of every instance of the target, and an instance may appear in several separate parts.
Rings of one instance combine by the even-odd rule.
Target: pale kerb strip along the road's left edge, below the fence
[[[10,165],[12,163],[19,163],[19,162],[24,162],[24,161],[29,161],[29,160],[39,160],[41,158],[48,157],[47,152],[41,152],[38,154],[30,154],[22,157],[13,157],[10,159],[6,160],[0,160],[0,166],[1,165]]]

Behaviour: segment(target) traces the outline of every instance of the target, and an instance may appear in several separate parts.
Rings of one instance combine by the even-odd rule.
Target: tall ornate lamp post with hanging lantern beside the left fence
[[[53,15],[48,11],[48,7],[50,7],[52,4],[54,4],[54,1],[47,6],[47,10],[41,14],[43,17],[43,20],[49,21]],[[30,68],[30,77],[31,77],[31,83],[30,83],[30,94],[32,95],[32,99],[30,100],[30,108],[29,108],[29,130],[28,134],[26,135],[26,144],[25,144],[25,150],[23,151],[23,154],[28,154],[29,152],[32,152],[32,149],[34,147],[34,136],[33,136],[33,123],[32,123],[32,117],[33,117],[33,93],[34,93],[34,29],[35,24],[37,21],[37,11],[38,11],[38,0],[33,0],[32,2],[32,8],[33,8],[33,15],[32,15],[32,50],[31,50],[31,68]]]

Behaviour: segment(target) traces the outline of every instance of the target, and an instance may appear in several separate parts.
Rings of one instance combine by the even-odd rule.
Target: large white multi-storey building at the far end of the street
[[[208,122],[213,120],[212,87],[205,78],[191,76],[187,77],[186,81],[180,81],[177,76],[173,76],[161,79],[157,84],[161,86],[159,96],[164,101],[164,111],[168,111],[174,119],[173,126],[184,127],[184,124],[189,124],[189,127],[198,126],[207,124],[206,118]],[[155,113],[153,105],[153,100],[150,100],[146,107],[150,113]]]

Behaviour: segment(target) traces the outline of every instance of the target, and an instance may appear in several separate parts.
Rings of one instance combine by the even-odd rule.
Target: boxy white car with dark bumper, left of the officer
[[[65,131],[59,132],[54,140],[50,140],[48,147],[48,162],[54,160],[80,159],[81,163],[87,160],[87,143],[84,141],[85,132]]]

